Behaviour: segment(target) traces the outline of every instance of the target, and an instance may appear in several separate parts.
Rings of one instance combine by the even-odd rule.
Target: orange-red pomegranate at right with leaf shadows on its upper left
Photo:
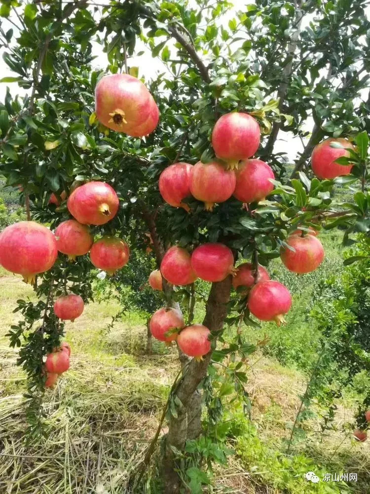
[[[324,247],[313,235],[291,235],[287,244],[295,249],[281,247],[280,257],[284,265],[294,273],[310,273],[317,269],[325,257]]]

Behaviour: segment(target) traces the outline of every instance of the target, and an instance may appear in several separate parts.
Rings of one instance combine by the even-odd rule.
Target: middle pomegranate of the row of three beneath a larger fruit
[[[212,211],[215,203],[223,203],[231,197],[235,184],[235,173],[215,161],[198,161],[191,170],[190,192],[195,199],[204,202],[207,211]]]

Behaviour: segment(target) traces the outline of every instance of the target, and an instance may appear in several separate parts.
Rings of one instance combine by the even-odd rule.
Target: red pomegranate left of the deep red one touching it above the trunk
[[[191,267],[191,258],[185,248],[170,247],[161,262],[161,273],[172,285],[189,285],[197,276]]]

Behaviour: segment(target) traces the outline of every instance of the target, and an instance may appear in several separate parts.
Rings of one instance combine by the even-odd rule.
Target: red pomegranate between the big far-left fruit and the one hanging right
[[[87,254],[94,242],[88,226],[74,219],[63,221],[55,230],[55,238],[59,252],[67,254],[71,260],[76,255]]]

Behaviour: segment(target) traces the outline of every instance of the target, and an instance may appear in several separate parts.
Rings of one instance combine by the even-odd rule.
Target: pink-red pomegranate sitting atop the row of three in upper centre
[[[235,168],[240,160],[251,158],[259,147],[261,133],[257,121],[247,113],[227,113],[216,122],[212,146],[216,156]]]

